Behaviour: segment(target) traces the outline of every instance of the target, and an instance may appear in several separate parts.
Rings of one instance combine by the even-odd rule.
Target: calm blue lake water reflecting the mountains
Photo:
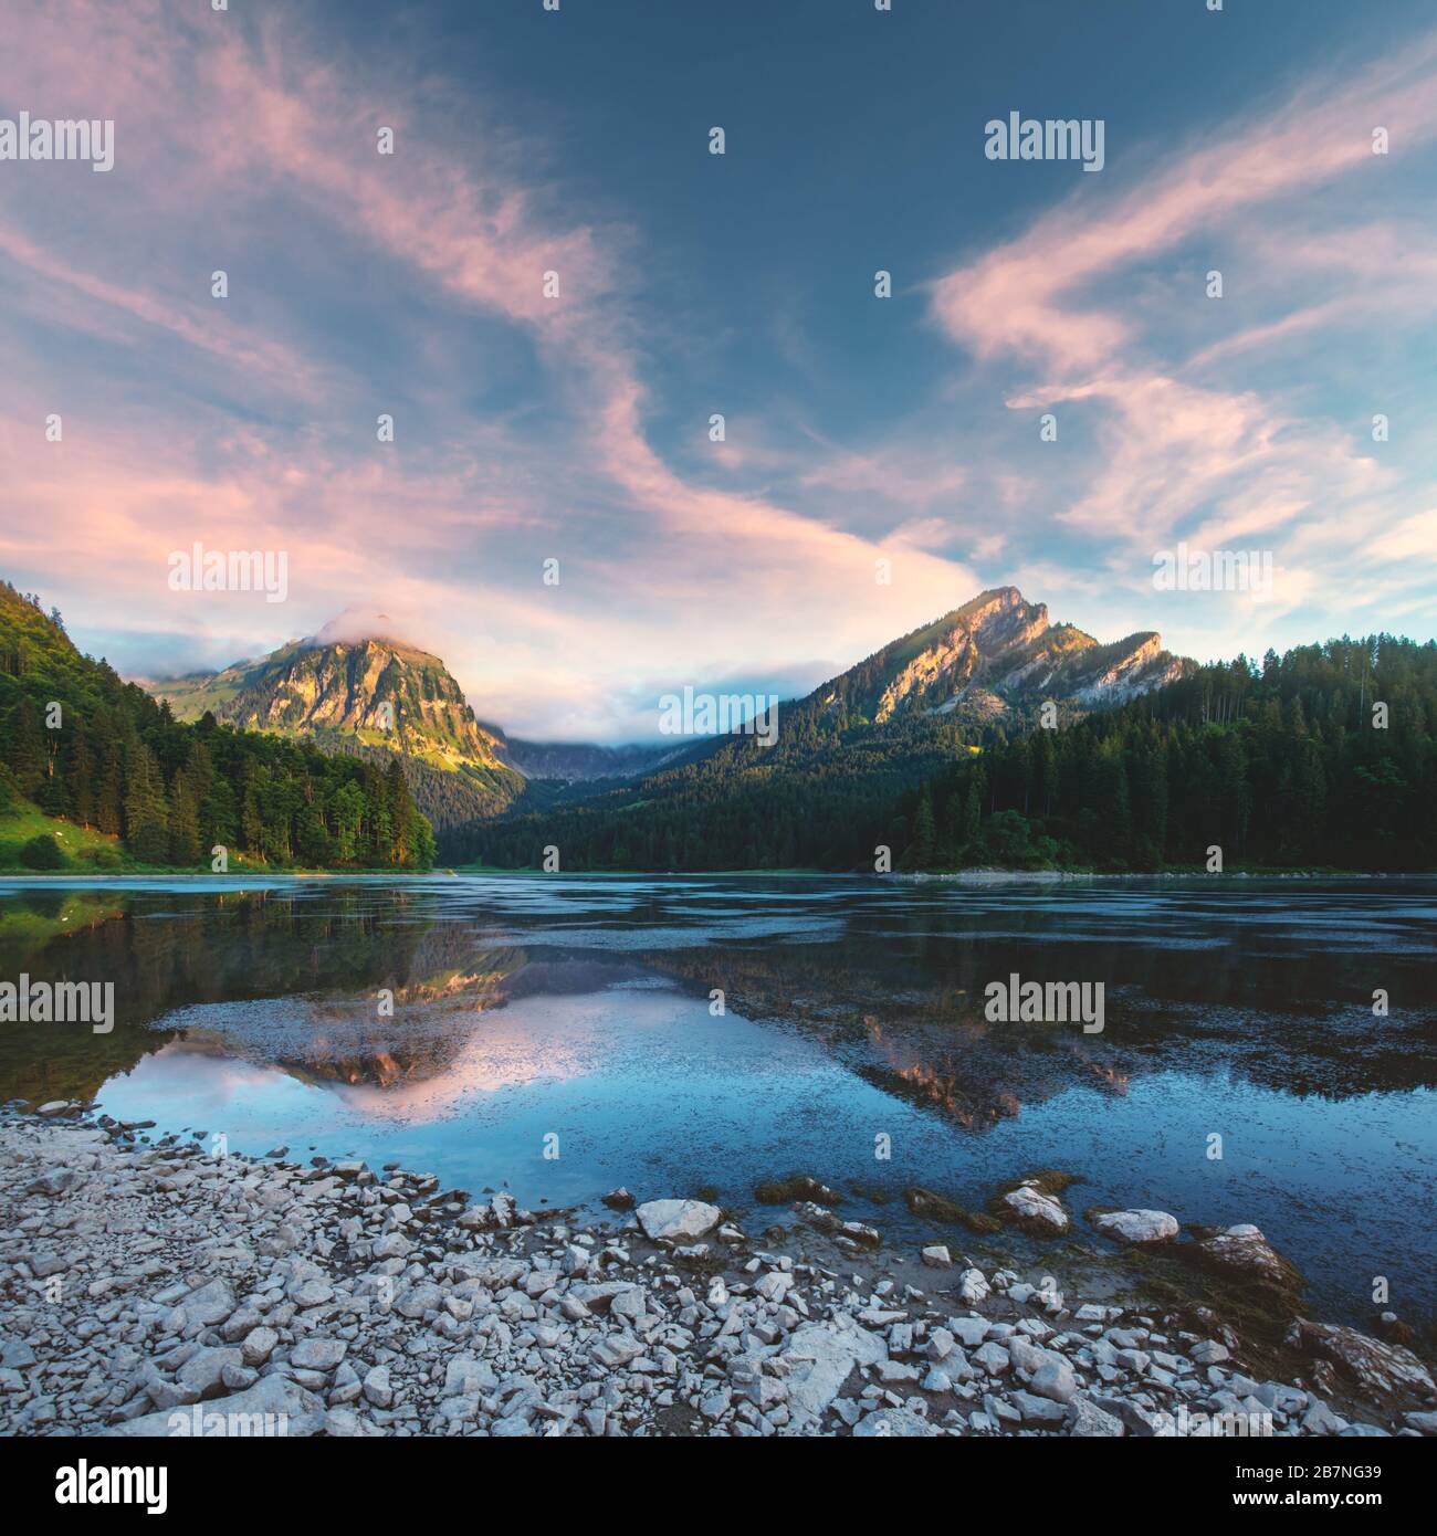
[[[1374,1275],[1437,1315],[1434,880],[0,880],[20,972],[114,982],[118,1021],[0,1025],[6,1100],[533,1206],[707,1187],[753,1230],[808,1172],[904,1241],[908,1184],[1057,1167],[1074,1213],[1257,1223],[1316,1316]],[[1103,1031],[988,1023],[1011,972],[1102,982]]]

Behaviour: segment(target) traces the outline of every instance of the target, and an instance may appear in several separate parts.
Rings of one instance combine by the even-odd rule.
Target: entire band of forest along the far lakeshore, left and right
[[[1434,644],[1240,656],[1051,717],[1030,699],[885,719],[859,688],[870,664],[842,699],[835,682],[790,703],[767,743],[704,740],[436,839],[400,756],[180,722],[0,582],[0,871],[204,874],[215,856],[214,872],[244,874],[536,871],[550,849],[567,874],[1437,868]],[[555,785],[530,790],[547,802]]]

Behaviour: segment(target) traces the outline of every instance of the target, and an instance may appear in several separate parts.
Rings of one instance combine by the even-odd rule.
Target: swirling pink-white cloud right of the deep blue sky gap
[[[1352,327],[1411,324],[1437,303],[1429,241],[1409,238],[1397,190],[1434,140],[1437,34],[1356,74],[1334,66],[1156,164],[1110,144],[1116,197],[1080,186],[933,284],[934,319],[1002,379],[1008,407],[1034,430],[1039,412],[1059,418],[1040,519],[1087,541],[1085,567],[1128,605],[1147,591],[1157,611],[1147,553],[1177,538],[1276,548],[1279,611],[1340,605],[1346,556],[1305,538],[1334,508],[1349,544],[1362,530],[1365,561],[1399,558],[1405,539],[1388,530],[1412,528],[1431,495],[1420,464],[1371,433],[1400,369],[1354,407],[1334,362]],[[1337,290],[1314,281],[1334,272]]]

